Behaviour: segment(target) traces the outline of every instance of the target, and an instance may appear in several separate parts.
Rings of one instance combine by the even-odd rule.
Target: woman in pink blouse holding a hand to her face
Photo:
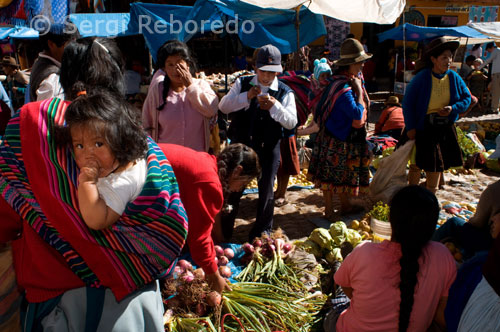
[[[186,44],[166,42],[157,60],[166,75],[144,101],[144,128],[157,143],[208,151],[209,120],[217,114],[217,95],[206,81],[193,78],[195,63]]]

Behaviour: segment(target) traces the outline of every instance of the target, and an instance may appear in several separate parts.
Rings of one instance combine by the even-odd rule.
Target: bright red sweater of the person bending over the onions
[[[174,144],[159,144],[174,169],[188,215],[187,243],[194,262],[206,274],[217,270],[212,228],[224,197],[217,158]]]

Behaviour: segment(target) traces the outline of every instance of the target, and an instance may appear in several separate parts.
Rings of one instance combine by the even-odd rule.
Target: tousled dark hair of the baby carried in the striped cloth
[[[144,158],[147,134],[142,128],[140,112],[121,95],[99,91],[77,97],[66,109],[65,141],[71,143],[70,130],[88,126],[102,133],[119,166]]]

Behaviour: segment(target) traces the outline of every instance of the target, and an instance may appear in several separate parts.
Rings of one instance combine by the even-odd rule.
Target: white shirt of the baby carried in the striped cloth
[[[124,171],[100,178],[97,180],[99,196],[107,206],[121,215],[125,211],[125,206],[141,193],[146,183],[146,173],[146,160],[140,159]]]

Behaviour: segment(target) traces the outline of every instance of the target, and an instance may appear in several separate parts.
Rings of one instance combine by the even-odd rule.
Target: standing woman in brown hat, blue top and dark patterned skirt
[[[309,165],[309,176],[323,191],[325,217],[335,218],[333,195],[340,198],[340,213],[353,207],[349,196],[368,191],[370,156],[366,144],[368,94],[363,86],[363,62],[371,58],[353,38],[340,48],[338,69],[322,93],[314,114],[320,131]]]

